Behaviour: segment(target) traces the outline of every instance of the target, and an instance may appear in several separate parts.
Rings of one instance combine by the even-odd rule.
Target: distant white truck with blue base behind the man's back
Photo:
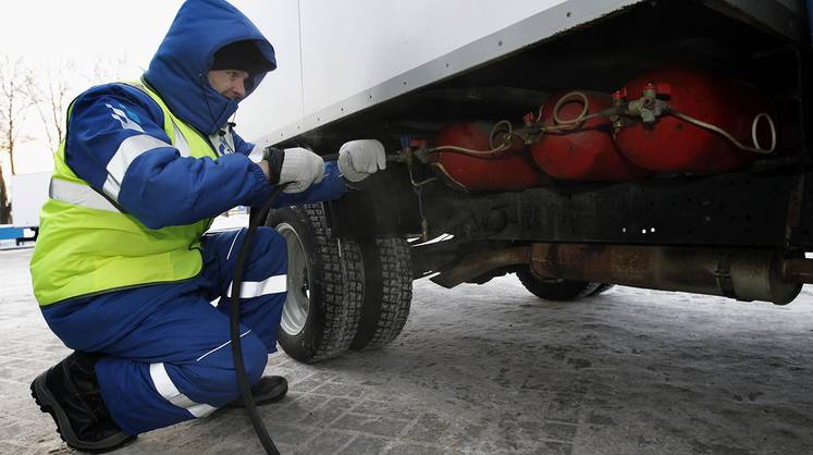
[[[48,199],[50,180],[50,172],[11,176],[11,224],[0,224],[0,241],[13,241],[14,245],[36,241],[39,209]]]

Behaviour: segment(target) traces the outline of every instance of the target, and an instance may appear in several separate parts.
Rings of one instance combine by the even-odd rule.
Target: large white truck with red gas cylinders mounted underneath
[[[341,199],[261,220],[287,242],[297,360],[391,343],[421,278],[777,305],[813,282],[802,1],[235,3],[293,66],[241,111],[258,149],[390,153]]]

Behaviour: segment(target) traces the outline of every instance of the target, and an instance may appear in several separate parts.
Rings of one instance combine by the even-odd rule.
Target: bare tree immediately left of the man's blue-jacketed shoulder
[[[57,147],[65,137],[65,114],[71,101],[69,96],[73,91],[65,74],[75,70],[76,63],[66,60],[51,70],[39,73],[28,71],[25,76],[25,91],[42,121],[46,139],[52,152],[57,151]]]

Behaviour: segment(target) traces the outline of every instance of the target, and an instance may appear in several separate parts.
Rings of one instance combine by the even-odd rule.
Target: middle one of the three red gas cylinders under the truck
[[[551,96],[542,108],[539,120],[543,125],[556,125],[556,104],[559,104],[558,119],[567,122],[609,108],[612,103],[611,96],[605,94],[558,93]],[[650,174],[618,152],[613,142],[612,124],[605,118],[590,119],[576,124],[572,130],[551,130],[533,145],[531,153],[545,173],[562,180],[613,182]]]

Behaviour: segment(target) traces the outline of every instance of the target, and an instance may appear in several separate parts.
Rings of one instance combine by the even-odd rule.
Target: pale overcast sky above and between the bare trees
[[[183,1],[14,0],[0,14],[0,56],[39,71],[73,60],[76,74],[64,75],[76,90],[87,88],[95,62],[126,56],[123,78],[137,78],[149,63]],[[78,94],[75,93],[73,95]],[[26,116],[25,133],[42,136],[36,113]],[[50,171],[52,161],[41,140],[16,149],[17,173]],[[8,169],[8,167],[5,167]]]

